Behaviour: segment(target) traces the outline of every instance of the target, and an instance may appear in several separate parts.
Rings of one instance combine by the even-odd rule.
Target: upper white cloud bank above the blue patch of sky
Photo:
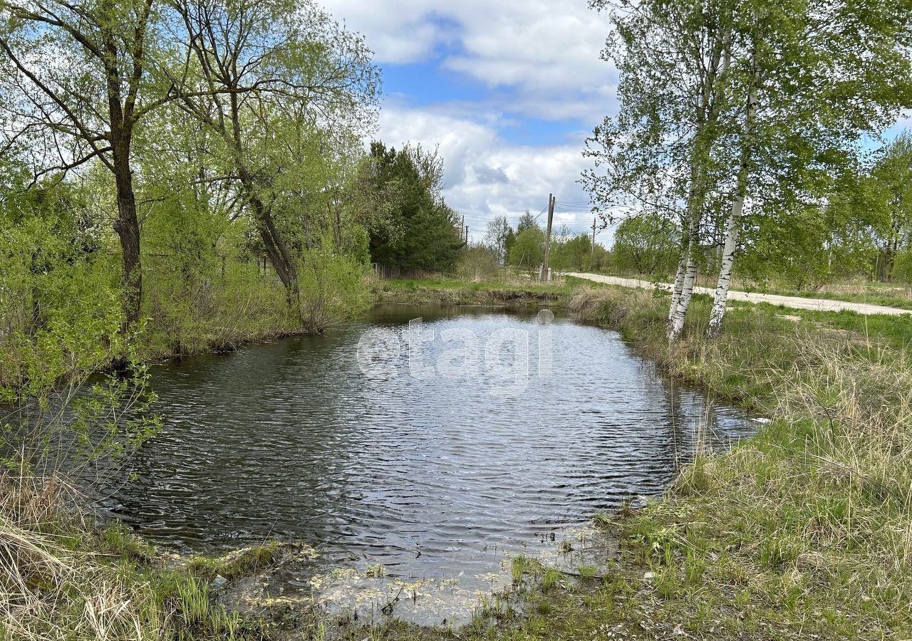
[[[379,64],[434,59],[491,89],[501,109],[595,124],[614,104],[617,74],[599,58],[607,21],[586,0],[323,4],[367,37]]]

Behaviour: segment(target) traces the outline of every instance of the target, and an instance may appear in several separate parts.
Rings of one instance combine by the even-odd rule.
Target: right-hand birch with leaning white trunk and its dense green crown
[[[737,16],[733,56],[745,96],[741,161],[708,336],[718,336],[745,199],[806,210],[909,104],[908,7],[875,2],[752,2]],[[759,109],[759,113],[758,113]],[[749,194],[749,185],[753,192]],[[824,211],[823,207],[816,207]]]

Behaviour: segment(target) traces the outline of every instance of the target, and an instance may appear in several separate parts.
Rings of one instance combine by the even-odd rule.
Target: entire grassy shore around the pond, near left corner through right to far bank
[[[710,302],[697,296],[685,336],[668,345],[667,295],[574,286],[396,281],[379,285],[377,295],[402,303],[566,305],[620,331],[670,376],[772,419],[734,450],[700,453],[661,500],[599,519],[621,547],[607,574],[567,577],[519,560],[513,588],[457,630],[392,620],[337,626],[307,612],[251,620],[216,605],[212,579],[234,579],[272,563],[276,547],[175,565],[118,528],[98,532],[77,512],[33,507],[75,501],[47,499],[47,490],[6,491],[21,497],[0,504],[0,581],[12,577],[0,592],[14,595],[0,596],[6,635],[353,641],[912,636],[907,319],[739,305],[727,315],[723,336],[707,341]]]

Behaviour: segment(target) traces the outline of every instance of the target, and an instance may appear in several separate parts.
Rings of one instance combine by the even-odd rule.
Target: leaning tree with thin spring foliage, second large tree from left
[[[367,129],[378,71],[357,34],[311,3],[290,0],[174,0],[192,54],[193,90],[177,104],[222,143],[223,173],[243,195],[266,255],[288,292],[298,295],[297,251],[277,220],[276,180],[306,166],[278,161],[283,128]],[[188,85],[192,87],[192,85]],[[292,131],[294,133],[294,131]],[[295,153],[300,149],[293,150]]]

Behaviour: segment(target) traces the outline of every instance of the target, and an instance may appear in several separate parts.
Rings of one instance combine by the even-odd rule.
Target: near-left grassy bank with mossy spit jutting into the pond
[[[97,530],[83,497],[57,477],[0,474],[0,639],[269,639],[258,619],[212,599],[208,576],[166,569],[120,524]],[[277,544],[197,567],[236,576]]]

